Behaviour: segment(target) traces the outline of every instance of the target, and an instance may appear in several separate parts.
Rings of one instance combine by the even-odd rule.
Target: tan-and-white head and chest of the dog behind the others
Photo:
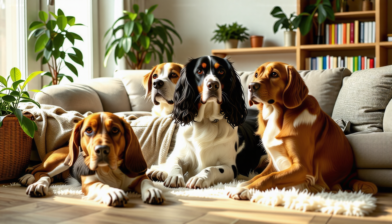
[[[180,78],[180,71],[184,66],[177,63],[162,63],[152,68],[143,78],[145,97],[151,95],[154,103],[152,114],[166,116],[171,114],[174,102],[174,88]]]

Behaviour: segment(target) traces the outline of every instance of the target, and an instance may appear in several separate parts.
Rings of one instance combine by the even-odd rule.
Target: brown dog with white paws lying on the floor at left
[[[80,152],[80,153],[79,153]],[[73,177],[82,183],[84,199],[110,206],[127,203],[126,191],[143,202],[162,204],[162,191],[145,174],[147,163],[129,123],[112,113],[94,113],[74,127],[69,147],[48,153],[31,174],[19,179],[26,194],[42,197],[52,182]]]

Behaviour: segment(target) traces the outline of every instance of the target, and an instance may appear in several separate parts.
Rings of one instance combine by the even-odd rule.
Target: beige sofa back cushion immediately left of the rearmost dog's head
[[[114,77],[120,78],[127,91],[132,111],[151,111],[152,104],[150,99],[145,99],[145,89],[143,88],[143,76],[151,70],[116,70]],[[123,110],[126,111],[126,110]]]

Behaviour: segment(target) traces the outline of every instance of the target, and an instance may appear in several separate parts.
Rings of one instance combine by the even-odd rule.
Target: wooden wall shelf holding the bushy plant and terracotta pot
[[[230,49],[214,49],[212,55],[225,57],[226,55],[248,55],[266,53],[295,53],[297,47],[242,47]]]

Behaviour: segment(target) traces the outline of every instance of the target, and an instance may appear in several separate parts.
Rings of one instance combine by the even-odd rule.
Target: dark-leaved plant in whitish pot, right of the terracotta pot
[[[301,21],[301,16],[296,16],[294,13],[290,14],[290,18],[287,18],[286,14],[282,11],[279,6],[275,6],[270,13],[273,17],[279,18],[274,24],[274,33],[278,32],[279,26],[281,29],[286,29],[284,33],[284,46],[295,46],[295,36],[299,22]]]

